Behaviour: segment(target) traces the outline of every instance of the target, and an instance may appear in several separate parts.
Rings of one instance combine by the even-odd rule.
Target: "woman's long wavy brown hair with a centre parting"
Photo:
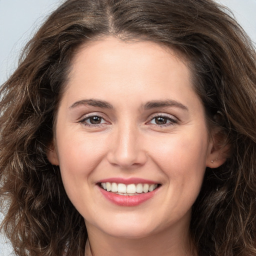
[[[46,151],[75,50],[107,35],[185,56],[208,125],[230,145],[227,161],[205,171],[194,245],[202,256],[256,255],[256,55],[227,12],[212,0],[67,0],[49,16],[0,89],[2,228],[17,255],[84,254],[84,220]]]

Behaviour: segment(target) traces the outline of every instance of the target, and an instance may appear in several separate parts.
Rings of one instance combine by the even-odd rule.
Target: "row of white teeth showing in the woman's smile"
[[[100,187],[105,191],[114,192],[120,195],[139,195],[141,193],[148,193],[156,189],[160,184],[123,184],[116,182],[101,182]]]

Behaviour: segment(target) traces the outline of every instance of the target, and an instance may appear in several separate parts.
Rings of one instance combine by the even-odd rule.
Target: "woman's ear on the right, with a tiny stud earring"
[[[206,157],[206,166],[217,168],[222,165],[229,155],[230,145],[226,142],[226,134],[216,127],[211,131],[211,138]]]

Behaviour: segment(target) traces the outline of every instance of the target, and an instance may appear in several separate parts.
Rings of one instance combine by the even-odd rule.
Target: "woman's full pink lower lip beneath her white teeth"
[[[142,202],[152,198],[155,195],[157,188],[151,192],[141,193],[137,195],[120,195],[114,192],[108,192],[100,187],[100,192],[106,199],[119,206],[136,206]]]

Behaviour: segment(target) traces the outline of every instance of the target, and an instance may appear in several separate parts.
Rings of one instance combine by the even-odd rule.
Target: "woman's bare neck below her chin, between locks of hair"
[[[89,229],[89,230],[88,230]],[[97,229],[88,230],[85,256],[192,256],[188,230],[179,234],[164,230],[141,238],[114,237]]]

